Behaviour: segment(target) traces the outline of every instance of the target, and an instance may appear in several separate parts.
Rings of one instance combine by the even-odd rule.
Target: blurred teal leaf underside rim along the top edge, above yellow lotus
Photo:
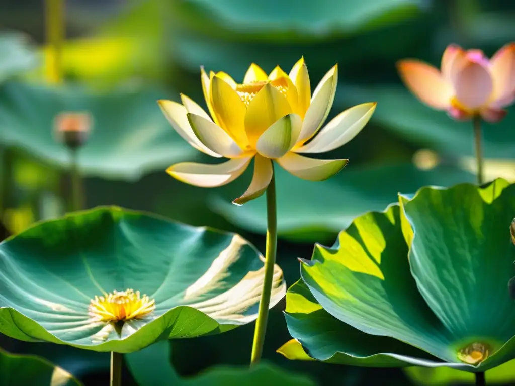
[[[238,0],[186,0],[175,12],[181,23],[204,31],[217,27],[225,31],[253,34],[274,40],[300,36],[328,38],[391,23],[417,13],[421,0],[363,0],[334,2],[286,0],[239,2]],[[220,31],[218,31],[220,33]]]

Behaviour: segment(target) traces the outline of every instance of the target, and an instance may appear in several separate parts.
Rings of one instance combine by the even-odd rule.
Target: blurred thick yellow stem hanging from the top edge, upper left
[[[49,83],[62,81],[61,50],[64,41],[64,0],[45,0],[46,79]]]

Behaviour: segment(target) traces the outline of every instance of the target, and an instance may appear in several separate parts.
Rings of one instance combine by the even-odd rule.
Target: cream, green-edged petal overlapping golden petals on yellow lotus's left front
[[[187,117],[197,138],[209,149],[226,158],[237,158],[244,154],[234,139],[211,120],[192,113],[188,113]]]

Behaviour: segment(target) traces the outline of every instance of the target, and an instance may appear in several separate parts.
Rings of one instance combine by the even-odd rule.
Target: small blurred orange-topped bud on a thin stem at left
[[[88,112],[62,112],[55,117],[54,127],[60,142],[78,149],[88,140],[92,118]]]

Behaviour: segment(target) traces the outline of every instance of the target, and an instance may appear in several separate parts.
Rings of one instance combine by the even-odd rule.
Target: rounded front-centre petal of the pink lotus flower
[[[453,66],[454,71],[454,66]],[[483,106],[491,97],[493,82],[487,68],[468,61],[453,77],[455,97],[466,109]]]

